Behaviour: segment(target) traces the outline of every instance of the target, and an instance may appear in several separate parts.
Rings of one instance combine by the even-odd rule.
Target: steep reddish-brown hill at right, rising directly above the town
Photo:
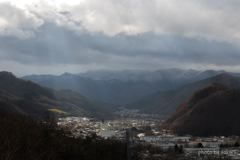
[[[196,91],[161,125],[178,134],[240,134],[240,90],[213,83]]]

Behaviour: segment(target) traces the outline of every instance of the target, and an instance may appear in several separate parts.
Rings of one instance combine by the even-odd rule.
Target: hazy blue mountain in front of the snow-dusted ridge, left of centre
[[[53,89],[75,90],[92,101],[103,101],[115,105],[128,104],[145,95],[157,92],[155,87],[146,81],[124,82],[117,79],[94,81],[70,73],[64,73],[60,76],[31,75],[22,77],[22,79]]]

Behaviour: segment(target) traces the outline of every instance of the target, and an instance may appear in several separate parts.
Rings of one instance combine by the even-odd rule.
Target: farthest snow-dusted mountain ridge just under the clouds
[[[193,69],[181,70],[177,68],[163,69],[157,71],[146,71],[146,70],[123,70],[123,71],[87,71],[85,73],[79,73],[78,75],[90,78],[92,80],[112,80],[118,79],[121,81],[147,81],[147,82],[158,82],[158,81],[169,81],[174,83],[189,83],[212,76],[219,75],[221,73],[227,73],[224,70],[214,71],[197,71]],[[240,77],[240,73],[228,72],[228,74]]]

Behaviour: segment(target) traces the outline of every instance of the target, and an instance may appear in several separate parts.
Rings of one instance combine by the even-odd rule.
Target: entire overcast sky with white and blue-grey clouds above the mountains
[[[0,70],[240,72],[239,8],[239,0],[0,0]]]

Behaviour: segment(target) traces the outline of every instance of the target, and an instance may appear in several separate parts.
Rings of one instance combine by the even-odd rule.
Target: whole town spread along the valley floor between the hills
[[[240,137],[232,135],[195,137],[176,135],[159,125],[167,118],[164,115],[140,114],[138,110],[120,108],[115,120],[90,117],[58,117],[58,125],[71,132],[72,137],[96,136],[126,142],[129,138],[130,151],[137,144],[154,146],[158,154],[151,155],[147,150],[141,153],[142,159],[162,159],[174,154],[176,159],[240,159]],[[126,132],[128,137],[126,138]]]

